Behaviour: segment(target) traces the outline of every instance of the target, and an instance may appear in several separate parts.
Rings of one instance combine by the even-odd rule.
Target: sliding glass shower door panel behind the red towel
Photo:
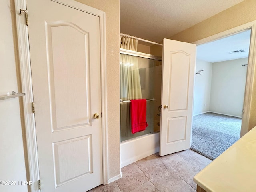
[[[127,85],[128,84],[131,85]],[[149,99],[146,105],[145,131],[132,134],[130,102],[120,102],[121,142],[160,130],[162,61],[120,54],[120,100]],[[154,100],[152,100],[154,99]]]

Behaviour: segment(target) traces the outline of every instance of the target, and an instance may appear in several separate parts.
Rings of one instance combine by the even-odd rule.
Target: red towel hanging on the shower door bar
[[[132,134],[146,130],[146,99],[136,99],[130,102]]]

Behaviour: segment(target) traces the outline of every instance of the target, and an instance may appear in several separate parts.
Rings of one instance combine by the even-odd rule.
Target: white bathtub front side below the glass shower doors
[[[121,168],[159,151],[160,133],[122,142],[120,145]]]

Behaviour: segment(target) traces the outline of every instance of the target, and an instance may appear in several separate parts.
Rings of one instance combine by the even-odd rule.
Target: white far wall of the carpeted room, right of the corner
[[[248,58],[212,64],[210,111],[242,117]]]

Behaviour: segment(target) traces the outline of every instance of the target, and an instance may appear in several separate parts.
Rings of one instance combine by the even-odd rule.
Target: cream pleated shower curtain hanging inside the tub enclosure
[[[120,48],[137,51],[138,40],[120,36]],[[138,58],[120,54],[120,98],[121,100],[141,99]],[[130,126],[130,102],[121,102],[121,137],[132,136]]]

